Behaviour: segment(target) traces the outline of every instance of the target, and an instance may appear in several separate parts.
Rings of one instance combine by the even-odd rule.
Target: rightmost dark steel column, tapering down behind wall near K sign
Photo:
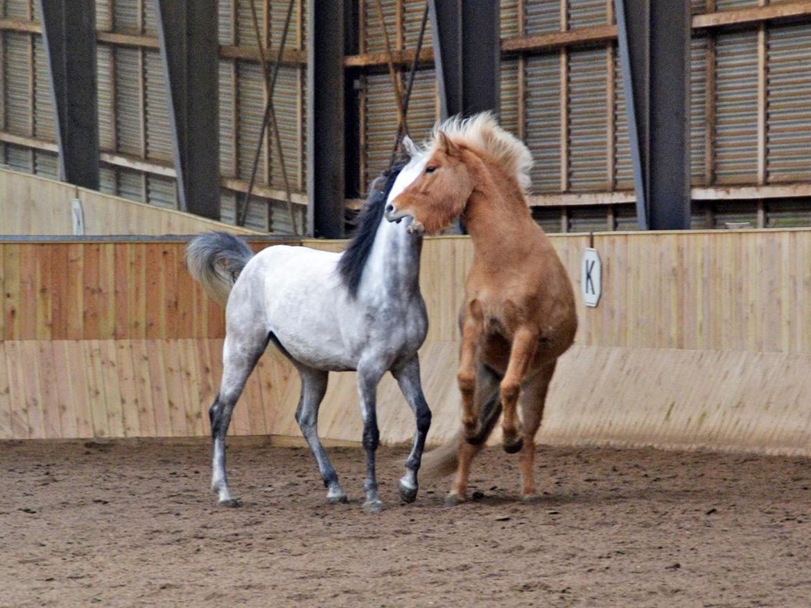
[[[689,0],[615,4],[639,226],[689,229]]]

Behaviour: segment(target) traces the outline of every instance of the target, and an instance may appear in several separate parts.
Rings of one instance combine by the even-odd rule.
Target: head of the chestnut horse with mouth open
[[[433,152],[419,176],[386,206],[386,219],[411,217],[410,231],[434,234],[448,228],[465,211],[473,177],[464,162],[465,148],[436,131]]]

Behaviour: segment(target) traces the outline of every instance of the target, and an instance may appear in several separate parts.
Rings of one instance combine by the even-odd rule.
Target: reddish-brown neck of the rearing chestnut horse
[[[538,226],[517,180],[491,161],[480,160],[468,165],[475,186],[462,220],[473,240],[474,263],[500,266],[533,245]]]

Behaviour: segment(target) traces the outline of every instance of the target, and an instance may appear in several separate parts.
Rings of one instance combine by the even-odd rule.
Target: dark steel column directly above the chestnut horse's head
[[[499,110],[498,0],[431,2],[436,76],[442,118]]]

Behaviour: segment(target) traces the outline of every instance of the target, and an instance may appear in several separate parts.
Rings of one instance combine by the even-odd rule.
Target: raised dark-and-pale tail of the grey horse
[[[186,247],[186,268],[203,289],[222,306],[239,273],[254,256],[251,247],[233,234],[198,234]]]

